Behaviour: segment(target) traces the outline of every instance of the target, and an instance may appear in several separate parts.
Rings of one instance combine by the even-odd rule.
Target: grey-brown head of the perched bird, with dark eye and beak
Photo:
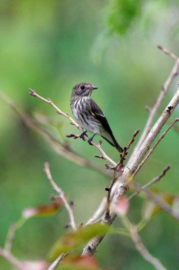
[[[81,82],[73,87],[72,95],[90,97],[94,89],[98,89],[98,87],[93,86],[93,84],[89,82]]]

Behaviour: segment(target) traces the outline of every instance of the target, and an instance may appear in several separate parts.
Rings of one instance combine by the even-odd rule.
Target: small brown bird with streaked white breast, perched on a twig
[[[72,90],[70,100],[72,114],[78,124],[85,130],[81,133],[80,138],[84,140],[86,132],[93,133],[92,138],[88,140],[88,143],[91,144],[95,135],[100,135],[122,153],[123,149],[116,141],[105,115],[91,98],[94,89],[98,89],[98,87],[89,82],[81,82],[76,84]]]

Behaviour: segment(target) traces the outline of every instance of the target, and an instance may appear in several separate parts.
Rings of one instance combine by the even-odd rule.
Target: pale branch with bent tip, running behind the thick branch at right
[[[147,119],[147,122],[145,124],[145,127],[143,129],[143,132],[141,134],[141,137],[136,145],[136,147],[133,149],[133,152],[131,154],[131,157],[129,159],[129,163],[131,161],[131,159],[133,158],[133,155],[135,155],[137,153],[137,151],[139,150],[139,147],[141,146],[141,144],[143,143],[143,141],[145,140],[145,138],[147,137],[147,134],[150,131],[153,119],[157,113],[157,111],[160,108],[160,105],[165,97],[165,94],[167,93],[173,79],[175,78],[175,76],[178,74],[178,69],[179,69],[179,58],[177,56],[175,56],[173,53],[170,53],[167,49],[165,49],[162,46],[158,46],[159,49],[161,49],[164,53],[166,53],[167,55],[169,55],[170,57],[172,57],[175,60],[173,69],[171,70],[167,80],[164,82],[163,86],[162,86],[162,90],[159,94],[158,99],[156,100],[153,108],[150,110],[150,114],[149,117]]]

